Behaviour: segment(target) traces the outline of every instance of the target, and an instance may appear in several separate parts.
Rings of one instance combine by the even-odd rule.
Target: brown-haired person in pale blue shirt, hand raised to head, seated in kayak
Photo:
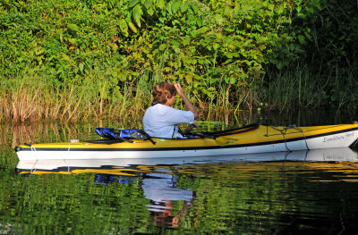
[[[186,111],[178,110],[172,106],[175,103],[175,94],[182,97]],[[143,127],[151,137],[158,138],[183,138],[178,124],[194,124],[199,114],[192,102],[185,96],[180,84],[173,85],[169,82],[159,82],[152,91],[153,104],[143,116]]]

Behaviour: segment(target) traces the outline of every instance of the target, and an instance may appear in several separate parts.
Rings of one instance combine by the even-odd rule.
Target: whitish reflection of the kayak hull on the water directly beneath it
[[[33,160],[20,161],[18,171],[52,171],[60,169],[71,172],[73,169],[98,169],[103,166],[128,167],[131,165],[178,165],[215,164],[231,162],[358,162],[358,154],[349,147],[301,150],[293,152],[272,152],[247,155],[218,155],[198,157],[166,158],[120,158],[96,160]],[[107,169],[107,167],[105,168]]]

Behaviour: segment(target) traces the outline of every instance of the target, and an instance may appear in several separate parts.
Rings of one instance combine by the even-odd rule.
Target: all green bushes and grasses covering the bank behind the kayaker
[[[138,120],[162,80],[203,120],[354,111],[357,52],[352,1],[1,0],[0,119]]]

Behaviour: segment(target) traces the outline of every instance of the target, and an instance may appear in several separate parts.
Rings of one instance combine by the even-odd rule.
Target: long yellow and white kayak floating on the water
[[[358,123],[311,127],[251,124],[233,130],[204,132],[200,138],[72,140],[15,147],[19,160],[163,158],[242,155],[350,147],[358,138]]]

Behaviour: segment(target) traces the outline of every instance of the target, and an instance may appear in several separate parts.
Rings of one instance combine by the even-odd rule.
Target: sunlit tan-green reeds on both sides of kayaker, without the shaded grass
[[[102,119],[140,122],[150,105],[151,90],[161,77],[151,77],[153,73],[143,71],[137,78],[118,84],[108,74],[106,70],[94,70],[79,83],[71,81],[61,85],[47,80],[46,75],[29,71],[13,80],[3,80],[0,122],[66,123]],[[223,84],[206,100],[193,96],[190,86],[185,90],[201,113],[202,120],[217,120],[223,113],[227,119],[229,113],[234,112],[235,105],[229,101],[232,98],[230,85]],[[180,99],[177,99],[175,107],[185,109]]]

